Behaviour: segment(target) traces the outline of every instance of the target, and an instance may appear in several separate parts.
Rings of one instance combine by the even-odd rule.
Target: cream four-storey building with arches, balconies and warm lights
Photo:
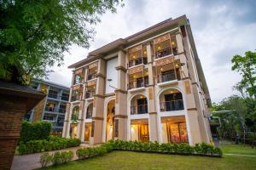
[[[185,15],[110,42],[69,68],[63,137],[211,142],[211,99]]]

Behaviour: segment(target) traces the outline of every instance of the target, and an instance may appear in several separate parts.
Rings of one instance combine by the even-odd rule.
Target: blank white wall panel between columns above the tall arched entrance
[[[107,78],[106,78],[106,94],[114,93],[114,88],[109,87],[108,79],[112,79],[110,82],[111,86],[118,87],[118,72],[115,67],[118,64],[118,58],[110,59],[107,62]]]

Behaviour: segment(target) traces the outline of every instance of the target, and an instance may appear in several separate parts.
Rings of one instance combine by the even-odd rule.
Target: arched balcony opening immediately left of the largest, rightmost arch
[[[138,94],[131,99],[131,115],[148,113],[148,99]]]

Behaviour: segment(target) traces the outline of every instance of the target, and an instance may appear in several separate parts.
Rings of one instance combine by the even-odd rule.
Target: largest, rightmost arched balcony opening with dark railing
[[[183,94],[177,89],[167,89],[160,94],[160,111],[184,110]]]

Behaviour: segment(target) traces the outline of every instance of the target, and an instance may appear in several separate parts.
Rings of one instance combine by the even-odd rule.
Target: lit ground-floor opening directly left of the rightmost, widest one
[[[131,140],[149,141],[148,119],[131,120]]]

